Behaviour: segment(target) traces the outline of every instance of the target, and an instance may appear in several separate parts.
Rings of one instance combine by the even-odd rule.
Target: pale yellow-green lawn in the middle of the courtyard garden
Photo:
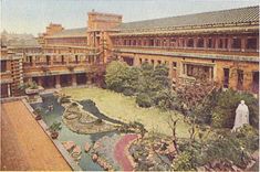
[[[163,111],[158,108],[141,108],[136,105],[134,97],[126,97],[107,89],[97,87],[87,88],[63,88],[62,93],[71,96],[75,100],[92,99],[95,101],[100,111],[106,116],[122,120],[124,122],[138,121],[142,122],[148,131],[159,132],[170,136],[171,130],[167,121],[169,116],[183,118],[175,111]],[[188,138],[188,123],[179,120],[177,123],[177,137]]]

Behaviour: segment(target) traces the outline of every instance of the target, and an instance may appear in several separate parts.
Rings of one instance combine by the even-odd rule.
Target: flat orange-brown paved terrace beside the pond
[[[22,100],[1,107],[1,170],[71,171]]]

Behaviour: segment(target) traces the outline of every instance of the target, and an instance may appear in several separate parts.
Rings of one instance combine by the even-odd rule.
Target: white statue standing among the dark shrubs
[[[232,131],[236,131],[238,128],[242,127],[243,125],[249,125],[249,110],[248,106],[245,104],[245,100],[241,100],[236,110],[236,118]]]

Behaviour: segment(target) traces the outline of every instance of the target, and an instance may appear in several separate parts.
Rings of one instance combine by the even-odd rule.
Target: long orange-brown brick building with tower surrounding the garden
[[[118,14],[87,14],[87,28],[51,23],[38,37],[40,46],[8,46],[22,55],[23,82],[44,88],[101,84],[105,66],[117,58],[131,66],[166,64],[173,87],[199,76],[258,94],[259,7],[129,23]]]

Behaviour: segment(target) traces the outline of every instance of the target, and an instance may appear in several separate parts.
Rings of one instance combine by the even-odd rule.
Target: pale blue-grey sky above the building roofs
[[[0,0],[1,31],[38,35],[45,26],[87,26],[87,12],[117,13],[123,22],[259,6],[258,0]]]

